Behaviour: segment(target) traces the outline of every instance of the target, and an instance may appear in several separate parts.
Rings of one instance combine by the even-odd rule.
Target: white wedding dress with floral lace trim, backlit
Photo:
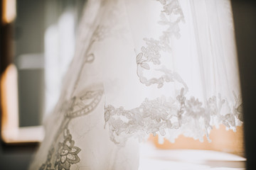
[[[138,169],[149,134],[235,131],[242,101],[228,0],[89,0],[31,169]],[[208,137],[210,141],[210,138]]]

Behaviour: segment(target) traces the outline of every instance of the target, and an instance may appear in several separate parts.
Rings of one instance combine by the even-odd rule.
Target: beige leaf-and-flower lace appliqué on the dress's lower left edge
[[[100,103],[103,90],[90,90],[80,96],[73,97],[70,101],[64,102],[68,104],[65,107],[65,118],[60,125],[59,131],[55,135],[53,144],[51,145],[46,162],[41,165],[39,170],[69,170],[73,164],[78,164],[80,158],[78,154],[81,152],[80,147],[75,146],[68,124],[73,118],[78,118],[91,113]],[[61,109],[63,111],[63,108]],[[61,134],[63,134],[63,142],[58,142]]]

